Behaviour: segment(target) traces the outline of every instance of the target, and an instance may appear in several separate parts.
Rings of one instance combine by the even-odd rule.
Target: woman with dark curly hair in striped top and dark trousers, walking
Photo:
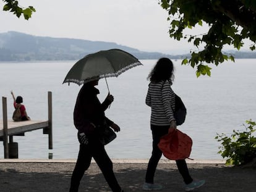
[[[176,129],[175,94],[171,89],[174,79],[173,70],[173,62],[168,58],[161,58],[148,75],[150,84],[148,85],[146,104],[151,107],[150,128],[153,136],[153,150],[148,162],[143,190],[161,190],[163,188],[154,183],[154,175],[162,156],[162,152],[158,148],[160,138],[168,134],[169,128]],[[205,183],[204,180],[194,181],[190,177],[185,159],[177,160],[176,164],[186,184],[186,191],[192,191]]]

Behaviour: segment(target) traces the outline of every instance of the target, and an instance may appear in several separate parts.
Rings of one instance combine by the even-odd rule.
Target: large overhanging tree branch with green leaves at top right
[[[234,61],[232,55],[223,54],[223,46],[231,45],[237,50],[243,40],[256,42],[256,1],[254,0],[159,0],[163,9],[168,10],[170,20],[169,35],[175,40],[187,39],[194,43],[197,51],[190,51],[190,59],[182,64],[197,67],[197,77],[210,76],[211,68],[205,65],[219,65],[224,61]],[[208,25],[208,33],[186,35],[186,28]],[[203,47],[199,50],[199,47]]]

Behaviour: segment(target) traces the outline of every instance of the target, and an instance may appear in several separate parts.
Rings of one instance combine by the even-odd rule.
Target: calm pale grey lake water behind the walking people
[[[118,78],[108,78],[114,102],[106,111],[121,132],[106,146],[111,158],[147,159],[151,153],[150,108],[145,105],[148,72],[155,60],[142,60],[143,66],[135,67]],[[0,63],[0,96],[7,97],[8,117],[11,119],[13,90],[15,96],[23,96],[28,115],[35,120],[47,120],[47,92],[53,92],[53,148],[48,149],[48,137],[42,130],[14,136],[19,143],[20,159],[48,158],[75,159],[79,150],[76,130],[72,122],[75,99],[80,86],[62,81],[75,61]],[[213,67],[211,77],[195,77],[195,70],[176,66],[173,90],[187,107],[187,119],[179,129],[194,141],[194,159],[221,159],[216,133],[230,135],[233,129],[243,129],[245,120],[256,120],[256,60],[237,59]],[[108,90],[105,80],[98,85],[100,100]],[[2,119],[2,102],[0,104]],[[0,147],[3,158],[3,146]]]

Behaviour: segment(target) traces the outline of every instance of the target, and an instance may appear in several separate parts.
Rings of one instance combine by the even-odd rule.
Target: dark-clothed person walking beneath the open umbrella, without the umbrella
[[[116,180],[113,163],[109,159],[105,146],[101,143],[99,137],[100,129],[105,126],[113,128],[114,131],[120,131],[119,126],[105,116],[105,110],[113,102],[114,97],[108,94],[105,101],[100,103],[97,98],[100,91],[95,88],[98,81],[96,79],[83,84],[75,103],[74,125],[78,130],[80,150],[72,173],[69,192],[79,190],[80,180],[90,166],[92,157],[100,167],[111,190],[113,192],[124,192]]]

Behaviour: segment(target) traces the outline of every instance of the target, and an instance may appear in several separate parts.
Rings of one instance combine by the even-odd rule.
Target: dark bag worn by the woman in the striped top
[[[187,115],[187,109],[182,102],[181,98],[175,94],[175,111],[174,118],[176,119],[176,125],[182,125],[185,122]]]

